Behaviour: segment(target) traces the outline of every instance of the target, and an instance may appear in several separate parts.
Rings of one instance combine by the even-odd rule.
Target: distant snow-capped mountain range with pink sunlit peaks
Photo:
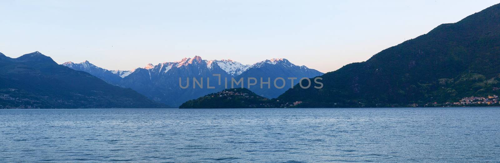
[[[298,80],[295,80],[293,83],[285,82],[284,88],[281,89],[273,86],[267,87],[267,85],[260,89],[260,81],[258,79],[263,78],[263,82],[270,81],[272,85],[272,81],[278,77],[284,79],[295,77],[300,79],[302,77],[310,78],[323,74],[306,66],[297,66],[284,58],[273,58],[252,65],[245,65],[230,59],[203,60],[199,56],[194,56],[193,58],[183,58],[174,62],[163,62],[156,65],[147,64],[143,68],[136,68],[131,71],[109,71],[97,67],[88,61],[81,63],[66,62],[62,65],[74,70],[88,72],[109,84],[131,88],[154,101],[169,106],[179,106],[187,100],[196,99],[203,95],[225,89],[224,78],[227,78],[228,85],[230,85],[231,78],[235,80],[243,78],[244,82],[246,82],[247,78],[256,78],[256,85],[243,86],[265,98],[276,98],[285,92],[287,88],[291,88],[292,85],[297,84]],[[214,74],[220,74],[221,85],[218,85],[218,76],[213,76]],[[182,79],[183,83],[189,78],[191,80],[190,86],[193,85],[192,78],[196,78],[197,80],[203,79],[205,82],[204,86],[206,86],[206,79],[210,78],[210,84],[213,84],[214,88],[188,87],[182,89],[179,87],[179,78]],[[277,84],[282,85],[283,83],[278,80]]]

